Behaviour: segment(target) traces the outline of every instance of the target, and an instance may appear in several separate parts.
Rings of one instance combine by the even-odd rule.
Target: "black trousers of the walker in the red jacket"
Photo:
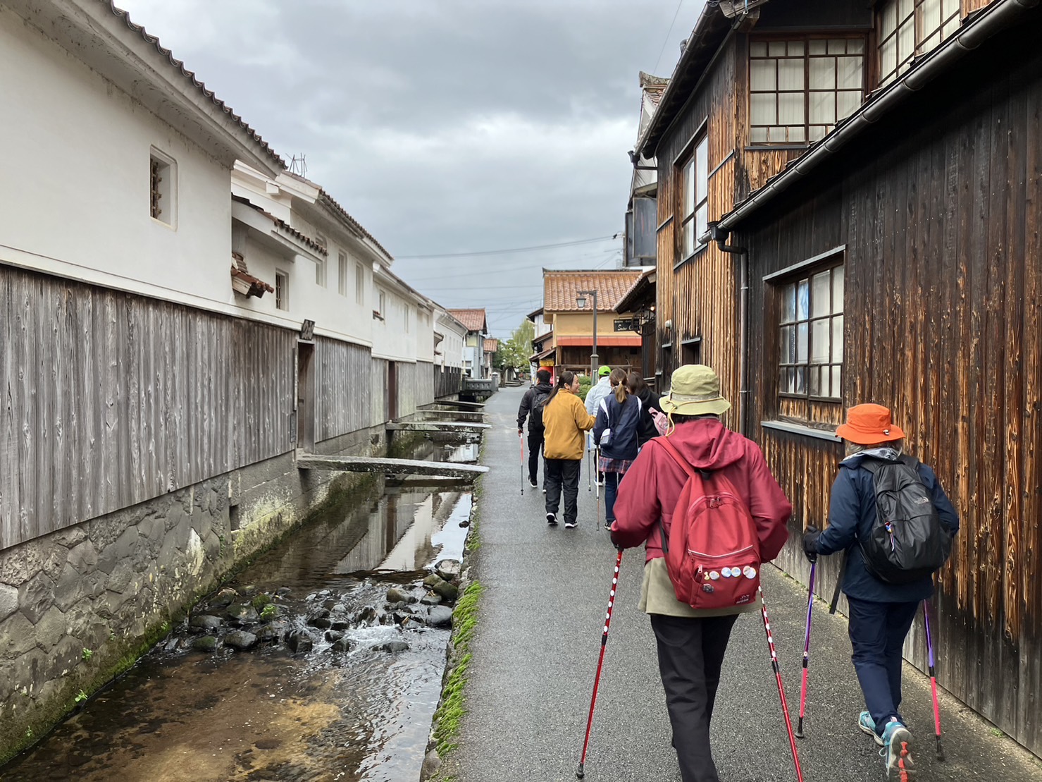
[[[737,614],[705,619],[651,614],[659,673],[684,782],[720,782],[710,750],[710,722],[736,619]]]

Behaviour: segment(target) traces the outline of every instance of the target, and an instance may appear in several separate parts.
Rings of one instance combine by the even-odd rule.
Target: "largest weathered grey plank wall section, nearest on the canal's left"
[[[292,448],[295,340],[0,267],[0,548]]]

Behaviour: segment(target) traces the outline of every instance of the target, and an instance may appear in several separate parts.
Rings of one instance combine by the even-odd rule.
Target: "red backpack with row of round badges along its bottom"
[[[726,478],[695,470],[665,437],[654,442],[684,467],[670,523],[659,520],[662,548],[676,598],[699,610],[744,606],[760,588],[760,537],[756,523]]]

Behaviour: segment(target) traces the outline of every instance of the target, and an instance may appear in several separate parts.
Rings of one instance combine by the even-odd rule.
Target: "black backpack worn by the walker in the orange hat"
[[[929,491],[919,476],[919,461],[866,458],[861,466],[875,485],[875,523],[859,539],[868,569],[888,584],[908,584],[932,576],[951,554],[951,535],[941,523]]]

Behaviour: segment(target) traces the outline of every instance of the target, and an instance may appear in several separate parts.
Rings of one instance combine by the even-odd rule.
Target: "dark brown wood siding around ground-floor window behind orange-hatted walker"
[[[962,519],[939,575],[939,680],[1040,753],[1042,54],[1029,39],[1003,35],[945,76],[950,92],[924,90],[738,241],[753,267],[753,422],[782,408],[762,276],[846,245],[844,406],[893,408]],[[805,577],[797,536],[825,517],[839,446],[759,439],[796,508],[782,562]],[[824,566],[822,594],[837,567]],[[905,652],[924,665],[921,628]]]

